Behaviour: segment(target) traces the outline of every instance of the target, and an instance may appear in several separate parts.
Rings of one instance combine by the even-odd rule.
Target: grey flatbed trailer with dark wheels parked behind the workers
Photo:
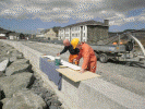
[[[129,56],[130,51],[133,50],[133,44],[128,45],[98,45],[92,46],[94,51],[97,53],[97,58],[100,62],[105,63],[108,59],[118,60],[121,56]],[[128,57],[125,57],[128,58]]]

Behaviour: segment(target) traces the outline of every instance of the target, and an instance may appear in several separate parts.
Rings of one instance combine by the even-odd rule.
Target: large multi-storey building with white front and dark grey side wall
[[[86,21],[59,29],[58,39],[78,38],[81,41],[96,43],[99,39],[108,38],[109,21],[105,20],[104,23],[96,21]]]

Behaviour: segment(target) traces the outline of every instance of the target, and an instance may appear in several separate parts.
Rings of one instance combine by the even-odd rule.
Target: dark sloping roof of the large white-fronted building
[[[106,26],[101,22],[96,22],[94,20],[90,20],[90,21],[80,22],[80,23],[76,23],[76,24],[71,24],[71,25],[64,26],[63,28],[65,28],[65,27],[72,27],[72,26],[80,26],[80,25],[101,25],[101,26]]]

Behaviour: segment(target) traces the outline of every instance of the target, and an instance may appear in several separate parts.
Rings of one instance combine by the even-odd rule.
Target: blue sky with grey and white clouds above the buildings
[[[88,20],[109,20],[109,32],[145,28],[145,0],[0,0],[0,27],[19,33]]]

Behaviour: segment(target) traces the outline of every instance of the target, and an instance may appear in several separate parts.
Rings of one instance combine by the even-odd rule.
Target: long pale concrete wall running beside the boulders
[[[101,78],[92,78],[74,83],[63,76],[62,90],[48,80],[39,70],[39,57],[43,53],[33,50],[20,41],[0,40],[23,52],[33,69],[40,74],[44,86],[49,84],[59,96],[65,109],[145,109],[145,98]]]

